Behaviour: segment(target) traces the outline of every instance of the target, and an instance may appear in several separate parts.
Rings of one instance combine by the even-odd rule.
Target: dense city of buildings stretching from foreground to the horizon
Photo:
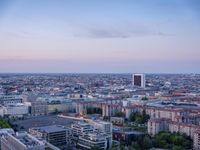
[[[199,74],[0,74],[1,150],[200,150]]]

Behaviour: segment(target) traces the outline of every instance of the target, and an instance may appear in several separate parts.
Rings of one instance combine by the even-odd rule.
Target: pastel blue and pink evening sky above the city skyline
[[[199,0],[0,0],[0,73],[200,73]]]

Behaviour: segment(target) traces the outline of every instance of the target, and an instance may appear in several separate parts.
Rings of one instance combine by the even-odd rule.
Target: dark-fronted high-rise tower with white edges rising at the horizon
[[[132,84],[133,86],[138,86],[138,87],[142,87],[145,88],[145,74],[133,74],[132,76]]]

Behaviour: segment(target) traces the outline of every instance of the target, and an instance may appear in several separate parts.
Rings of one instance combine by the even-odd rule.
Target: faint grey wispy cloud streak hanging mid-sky
[[[172,36],[172,34],[160,31],[158,28],[140,24],[124,24],[121,26],[88,26],[75,33],[75,37],[89,38],[131,38],[142,36]]]

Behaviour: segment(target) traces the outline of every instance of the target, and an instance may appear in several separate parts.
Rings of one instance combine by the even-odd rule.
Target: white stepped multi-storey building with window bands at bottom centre
[[[104,121],[79,122],[72,125],[73,139],[83,148],[100,146],[102,149],[112,147],[112,123]]]

